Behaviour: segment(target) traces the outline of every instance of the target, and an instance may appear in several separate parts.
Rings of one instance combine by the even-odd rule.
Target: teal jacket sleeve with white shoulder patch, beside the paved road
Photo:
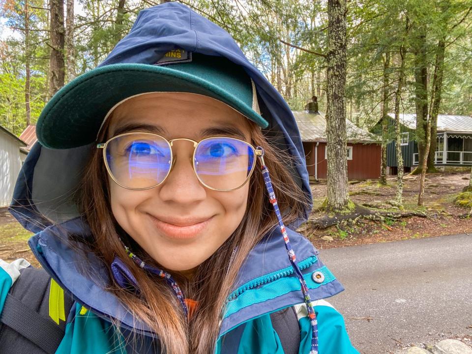
[[[319,354],[359,354],[351,344],[344,319],[341,314],[325,300],[313,301],[318,322]],[[310,353],[312,331],[306,305],[295,305],[300,325],[300,349],[298,354]]]

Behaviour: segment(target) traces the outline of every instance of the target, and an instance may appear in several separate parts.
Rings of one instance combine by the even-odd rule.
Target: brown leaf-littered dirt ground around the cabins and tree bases
[[[468,185],[469,177],[470,172],[428,175],[424,207],[416,206],[419,176],[405,177],[404,211],[417,211],[426,217],[385,217],[383,221],[361,219],[355,224],[341,224],[327,229],[315,228],[307,223],[299,231],[319,249],[460,233],[472,235],[472,218],[459,217],[469,209],[453,203],[455,196]],[[387,186],[378,185],[377,180],[350,181],[351,200],[361,206],[376,206],[376,210],[398,211],[386,204],[395,198],[395,183],[395,177],[388,179]],[[326,183],[313,183],[311,187],[314,211],[310,219],[323,215],[317,208],[324,202]],[[29,250],[27,241],[30,236],[31,233],[16,222],[7,208],[0,208],[0,259],[10,262],[25,258],[34,266],[39,266]]]

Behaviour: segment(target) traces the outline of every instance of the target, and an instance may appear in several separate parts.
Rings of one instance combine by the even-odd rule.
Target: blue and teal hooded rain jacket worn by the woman
[[[269,121],[268,134],[279,148],[291,155],[292,164],[287,168],[311,196],[300,134],[290,108],[245,58],[233,38],[217,25],[177,2],[148,8],[139,13],[130,33],[100,65],[153,64],[177,48],[226,57],[245,69],[256,85],[262,115]],[[111,280],[102,261],[83,249],[81,242],[71,248],[62,241],[71,234],[74,239],[90,237],[89,227],[77,213],[71,191],[77,186],[92,148],[94,144],[57,150],[36,143],[18,177],[10,211],[35,234],[29,239],[29,246],[43,268],[75,300],[70,314],[65,314],[66,330],[57,354],[134,353],[132,346],[123,340],[131,328],[145,334],[144,346],[136,346],[141,348],[140,353],[153,353],[145,350],[154,338],[148,326],[133,318],[115,295],[104,290]],[[309,211],[307,208],[297,222],[287,225],[287,232],[317,314],[319,353],[357,353],[342,316],[323,300],[341,292],[342,285],[320,261],[313,245],[293,231],[307,219]],[[85,275],[82,271],[84,257],[94,265],[94,274]],[[19,276],[18,269],[27,265],[22,261],[0,263],[0,312],[9,288]],[[315,277],[315,272],[323,276]],[[300,328],[299,354],[308,354],[311,327],[307,308],[277,227],[256,245],[239,271],[228,298],[215,353],[284,354],[269,314],[291,306],[295,308]],[[121,335],[114,330],[111,318],[121,322]]]

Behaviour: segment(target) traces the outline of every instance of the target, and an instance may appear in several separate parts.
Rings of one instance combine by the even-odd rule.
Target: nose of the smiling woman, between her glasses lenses
[[[207,198],[207,190],[193,169],[193,149],[190,144],[173,145],[173,167],[159,188],[162,201],[191,206]]]

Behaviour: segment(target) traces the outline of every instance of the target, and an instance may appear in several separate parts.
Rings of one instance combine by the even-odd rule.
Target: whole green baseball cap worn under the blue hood
[[[44,107],[36,124],[38,141],[55,149],[93,143],[118,103],[147,92],[202,94],[226,103],[262,128],[268,126],[259,111],[254,82],[241,66],[223,57],[177,49],[154,65],[111,64],[78,76]]]

